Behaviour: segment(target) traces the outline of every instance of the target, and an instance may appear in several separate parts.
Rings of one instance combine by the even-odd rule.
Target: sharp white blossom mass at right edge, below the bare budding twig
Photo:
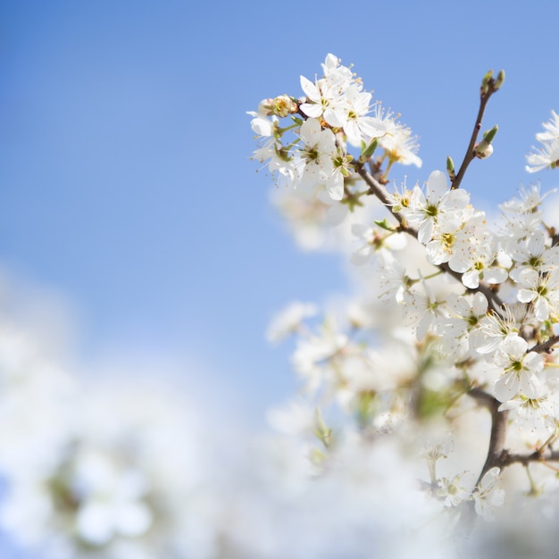
[[[414,315],[417,338],[432,334],[451,356],[449,366],[467,361],[473,370],[483,355],[488,368],[480,384],[502,409],[520,406],[555,430],[555,380],[538,344],[554,336],[559,314],[559,247],[541,221],[538,188],[503,204],[500,234],[488,230],[484,213],[471,208],[463,188],[449,188],[441,171],[430,174],[425,194],[415,187],[404,196],[399,214],[416,228],[427,262],[447,264],[467,288],[437,293],[425,278],[397,285],[405,286],[400,297]],[[390,273],[399,266],[386,257],[384,265]]]

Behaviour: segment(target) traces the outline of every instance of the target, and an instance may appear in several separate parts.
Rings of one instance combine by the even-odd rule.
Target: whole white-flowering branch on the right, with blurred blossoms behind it
[[[305,405],[322,411],[289,409],[318,439],[320,452],[309,450],[317,467],[336,459],[346,430],[371,444],[392,436],[414,447],[421,439],[426,493],[463,519],[471,509],[492,519],[505,503],[505,470],[522,466],[534,495],[559,471],[559,235],[544,220],[552,198],[539,185],[522,188],[489,223],[461,186],[470,163],[493,153],[497,127],[478,134],[505,74],[489,71],[481,82],[461,166],[448,157],[446,171],[408,188],[406,180],[389,186],[388,173],[395,163],[421,167],[412,131],[373,104],[362,80],[333,54],[322,71],[314,81],[301,77],[304,96],[266,99],[249,113],[260,143],[254,158],[267,163],[278,185],[292,187],[282,195],[282,212],[296,230],[309,223],[325,230],[324,215],[336,208],[336,246],[358,278],[345,308],[318,318],[316,305],[297,303],[272,322],[271,339],[295,335]],[[559,161],[555,112],[544,129],[541,149],[528,155],[530,172]],[[332,405],[349,423],[333,413],[338,427],[326,426]],[[445,431],[455,448],[456,441],[465,446],[460,433],[487,411],[491,425],[483,447],[477,442],[478,462],[462,455],[467,468],[438,473],[448,453],[431,439]]]

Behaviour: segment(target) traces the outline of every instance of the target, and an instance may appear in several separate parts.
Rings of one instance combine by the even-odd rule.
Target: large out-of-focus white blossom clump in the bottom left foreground
[[[4,529],[47,557],[58,550],[61,557],[124,559],[132,549],[137,556],[174,556],[202,528],[196,492],[204,458],[186,402],[140,379],[96,380],[76,391],[29,441],[44,443],[56,429],[48,460],[38,446],[27,463],[4,465]],[[41,413],[30,411],[32,399],[21,405]],[[213,546],[213,528],[205,526],[196,556]]]

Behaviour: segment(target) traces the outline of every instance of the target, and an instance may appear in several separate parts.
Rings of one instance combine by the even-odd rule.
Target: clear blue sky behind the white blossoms
[[[413,183],[447,154],[461,161],[480,79],[504,68],[484,126],[499,124],[496,153],[463,182],[474,204],[502,201],[532,179],[524,154],[559,110],[553,13],[550,1],[4,1],[0,263],[71,306],[82,362],[166,355],[263,417],[296,386],[287,350],[264,340],[271,314],[346,280],[337,256],[300,253],[282,228],[246,111],[300,95],[299,75],[337,54],[420,135]]]

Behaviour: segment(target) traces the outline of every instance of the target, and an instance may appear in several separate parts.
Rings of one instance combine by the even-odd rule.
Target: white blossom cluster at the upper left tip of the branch
[[[371,154],[379,144],[388,166],[393,163],[421,166],[418,144],[411,129],[397,122],[380,103],[371,104],[372,95],[363,91],[361,79],[343,66],[333,54],[322,64],[324,76],[311,81],[301,76],[305,97],[281,95],[264,99],[251,112],[251,126],[262,140],[254,157],[267,162],[278,184],[299,188],[323,186],[332,200],[341,200],[355,175],[347,145]],[[280,118],[292,123],[280,126]],[[294,139],[286,139],[296,130]],[[375,141],[376,140],[376,141]],[[371,153],[370,153],[371,152]]]

